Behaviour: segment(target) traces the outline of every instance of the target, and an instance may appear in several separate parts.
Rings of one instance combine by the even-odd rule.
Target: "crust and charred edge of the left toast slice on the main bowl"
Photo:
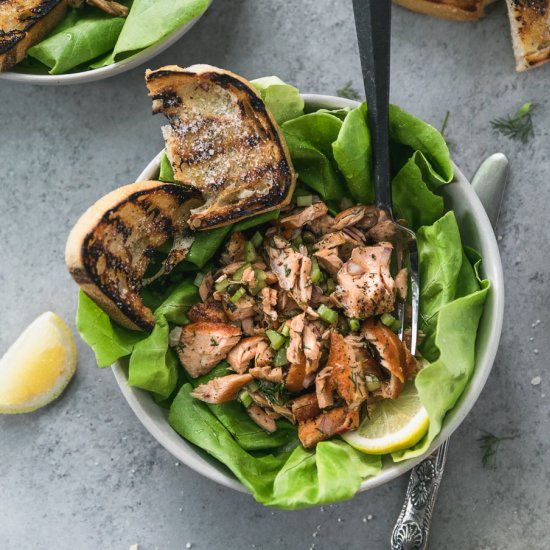
[[[109,317],[132,330],[151,331],[154,324],[135,318],[133,311],[125,303],[120,302],[117,296],[103,288],[99,278],[90,272],[85,257],[88,255],[88,243],[99,223],[107,222],[108,217],[125,203],[133,202],[141,195],[156,190],[185,198],[192,198],[197,194],[195,190],[183,185],[152,180],[119,187],[100,198],[84,212],[71,230],[65,249],[65,262],[69,273],[82,290],[97,302]]]

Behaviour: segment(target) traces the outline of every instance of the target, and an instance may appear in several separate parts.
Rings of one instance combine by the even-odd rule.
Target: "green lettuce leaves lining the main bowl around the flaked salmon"
[[[254,82],[253,82],[254,83]],[[299,91],[275,77],[256,81],[258,91],[281,125],[302,188],[318,193],[335,211],[344,202],[373,201],[371,141],[367,106],[304,112]],[[425,368],[415,380],[430,428],[413,448],[394,453],[401,461],[424,453],[439,433],[475,367],[475,343],[489,282],[479,276],[479,255],[462,246],[452,211],[445,212],[440,186],[453,179],[453,165],[441,134],[396,106],[390,109],[393,199],[396,214],[417,231],[420,254],[420,348]],[[161,161],[161,180],[173,181]],[[152,393],[168,409],[170,425],[182,437],[225,464],[254,498],[269,506],[298,509],[351,498],[361,482],[382,471],[383,457],[356,451],[342,440],[315,450],[299,445],[296,429],[278,421],[261,430],[236,402],[211,405],[194,399],[195,386],[223,374],[222,362],[197,380],[188,379],[169,347],[169,330],[181,322],[197,298],[197,270],[207,265],[230,233],[265,223],[270,212],[197,234],[179,280],[162,292],[145,293],[156,327],[149,335],[118,327],[85,294],[80,294],[77,326],[99,366],[126,358],[128,381]],[[179,320],[179,321],[178,321]]]

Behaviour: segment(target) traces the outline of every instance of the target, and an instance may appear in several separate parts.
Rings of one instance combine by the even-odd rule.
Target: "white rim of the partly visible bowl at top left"
[[[213,0],[209,1],[208,7],[210,7],[210,4],[212,4],[212,2]],[[192,21],[189,21],[189,23],[187,23],[183,27],[180,27],[172,34],[168,35],[158,44],[150,46],[149,48],[146,48],[139,53],[128,57],[127,59],[117,61],[116,63],[113,63],[112,65],[108,65],[106,67],[67,74],[33,74],[18,71],[5,71],[0,72],[0,78],[3,78],[4,80],[13,80],[15,82],[23,82],[24,84],[42,84],[46,86],[55,86],[63,84],[83,84],[84,82],[92,82],[94,80],[101,80],[103,78],[115,76],[125,71],[129,71],[134,67],[138,67],[142,63],[149,61],[149,59],[152,59],[159,53],[169,48],[172,44],[175,44],[184,34],[186,34],[191,29],[191,27],[193,27],[193,25],[202,17],[202,15],[197,17],[196,19],[193,19]]]

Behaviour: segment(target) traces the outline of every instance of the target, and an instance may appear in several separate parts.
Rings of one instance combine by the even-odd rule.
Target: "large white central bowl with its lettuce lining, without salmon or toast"
[[[372,201],[364,104],[329,96],[300,96],[295,88],[276,79],[261,79],[255,85],[281,124],[303,184],[324,198],[345,184],[356,200]],[[157,334],[137,334],[140,341],[136,344],[128,339],[136,333],[122,334],[89,298],[80,297],[77,326],[96,351],[98,364],[108,366],[132,354],[130,363],[121,359],[113,371],[129,405],[157,441],[202,475],[238,491],[249,491],[270,506],[297,509],[344,500],[405,473],[464,420],[495,359],[504,291],[499,251],[485,210],[452,164],[443,138],[433,127],[392,107],[390,134],[396,169],[394,204],[417,230],[420,251],[421,318],[426,332],[421,350],[428,366],[415,383],[430,416],[430,428],[414,447],[392,456],[369,456],[336,439],[307,451],[296,446],[288,423],[280,429],[282,433],[275,432],[275,446],[269,440],[275,434],[268,436],[247,424],[250,419],[238,404],[207,406],[190,397],[189,383],[178,389],[174,378],[178,367],[170,359],[167,342],[171,319],[159,313],[174,306],[168,303],[169,298],[158,306]],[[139,179],[170,181],[169,172],[169,163],[161,153]],[[218,229],[197,236],[193,243],[197,249],[194,254],[191,249],[186,261],[202,267],[211,257],[204,257],[208,249],[218,246],[212,248],[212,241],[217,238],[221,242],[220,231],[223,233]],[[221,239],[224,236],[227,232]],[[159,345],[156,338],[163,331]],[[158,367],[154,376],[152,361]],[[159,380],[171,383],[162,385]],[[136,385],[154,391],[157,397]],[[159,405],[166,404],[165,398],[170,413]]]

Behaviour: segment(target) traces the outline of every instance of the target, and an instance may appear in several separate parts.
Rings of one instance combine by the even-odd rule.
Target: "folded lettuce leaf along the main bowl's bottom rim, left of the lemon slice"
[[[225,464],[258,502],[296,510],[344,500],[381,470],[380,457],[361,455],[342,441],[320,443],[316,451],[296,447],[252,455],[191,391],[190,384],[180,389],[170,408],[170,425]]]

